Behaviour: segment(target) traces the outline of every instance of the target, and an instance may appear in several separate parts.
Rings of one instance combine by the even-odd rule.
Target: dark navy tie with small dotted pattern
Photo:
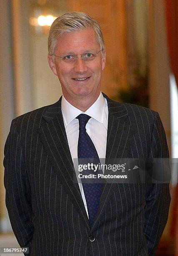
[[[79,120],[78,164],[88,164],[88,163],[100,164],[100,159],[98,157],[96,148],[90,136],[88,136],[88,133],[86,132],[86,128],[85,128],[86,124],[88,123],[88,120],[91,117],[89,115],[80,114],[76,118]],[[90,174],[90,173],[96,174],[98,177],[98,173],[101,173],[101,171],[100,169],[98,169],[95,173],[92,170],[83,170],[82,172],[82,174]],[[102,194],[103,183],[101,179],[98,179],[99,182],[101,183],[96,183],[96,181],[92,179],[91,179],[92,183],[83,183],[84,179],[81,179],[81,180],[82,180],[83,191],[85,194],[85,199],[86,199],[87,208],[88,208],[89,221],[92,226],[95,215],[98,211],[100,197]]]

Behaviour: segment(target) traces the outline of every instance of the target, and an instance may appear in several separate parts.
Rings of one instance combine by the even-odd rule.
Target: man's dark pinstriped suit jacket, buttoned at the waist
[[[169,156],[158,113],[104,96],[107,159]],[[105,184],[90,228],[73,182],[61,98],[12,121],[4,166],[10,222],[20,246],[29,246],[29,255],[155,254],[168,218],[168,184]]]

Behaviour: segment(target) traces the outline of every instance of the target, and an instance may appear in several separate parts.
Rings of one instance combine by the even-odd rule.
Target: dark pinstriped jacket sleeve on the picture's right
[[[168,145],[163,124],[158,113],[154,113],[155,116],[151,134],[149,158],[169,158]],[[158,172],[163,172],[170,177],[169,164],[163,165],[162,169],[159,169]],[[148,253],[150,256],[154,256],[160,237],[162,236],[165,228],[165,224],[168,220],[170,205],[169,181],[164,183],[154,182],[146,184],[145,200],[144,233],[148,245]]]

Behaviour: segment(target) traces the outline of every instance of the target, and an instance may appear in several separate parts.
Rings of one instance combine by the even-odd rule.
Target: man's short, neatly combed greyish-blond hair
[[[86,13],[70,12],[54,20],[48,36],[48,54],[54,54],[58,36],[65,32],[73,32],[84,28],[93,28],[100,50],[105,50],[105,43],[100,25]],[[103,53],[103,52],[102,52]]]

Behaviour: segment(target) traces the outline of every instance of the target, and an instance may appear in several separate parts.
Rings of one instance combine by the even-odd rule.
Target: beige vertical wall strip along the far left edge
[[[10,1],[1,1],[0,15],[0,229],[10,227],[5,208],[3,185],[3,148],[14,118],[12,39],[10,30]]]

